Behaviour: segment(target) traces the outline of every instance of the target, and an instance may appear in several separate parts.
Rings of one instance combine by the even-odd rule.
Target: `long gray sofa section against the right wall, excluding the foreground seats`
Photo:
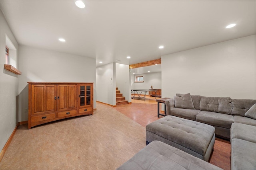
[[[245,115],[256,100],[176,94],[165,104],[166,115],[212,125],[216,136],[226,139],[230,139],[230,128],[234,122],[256,126],[256,119]]]

